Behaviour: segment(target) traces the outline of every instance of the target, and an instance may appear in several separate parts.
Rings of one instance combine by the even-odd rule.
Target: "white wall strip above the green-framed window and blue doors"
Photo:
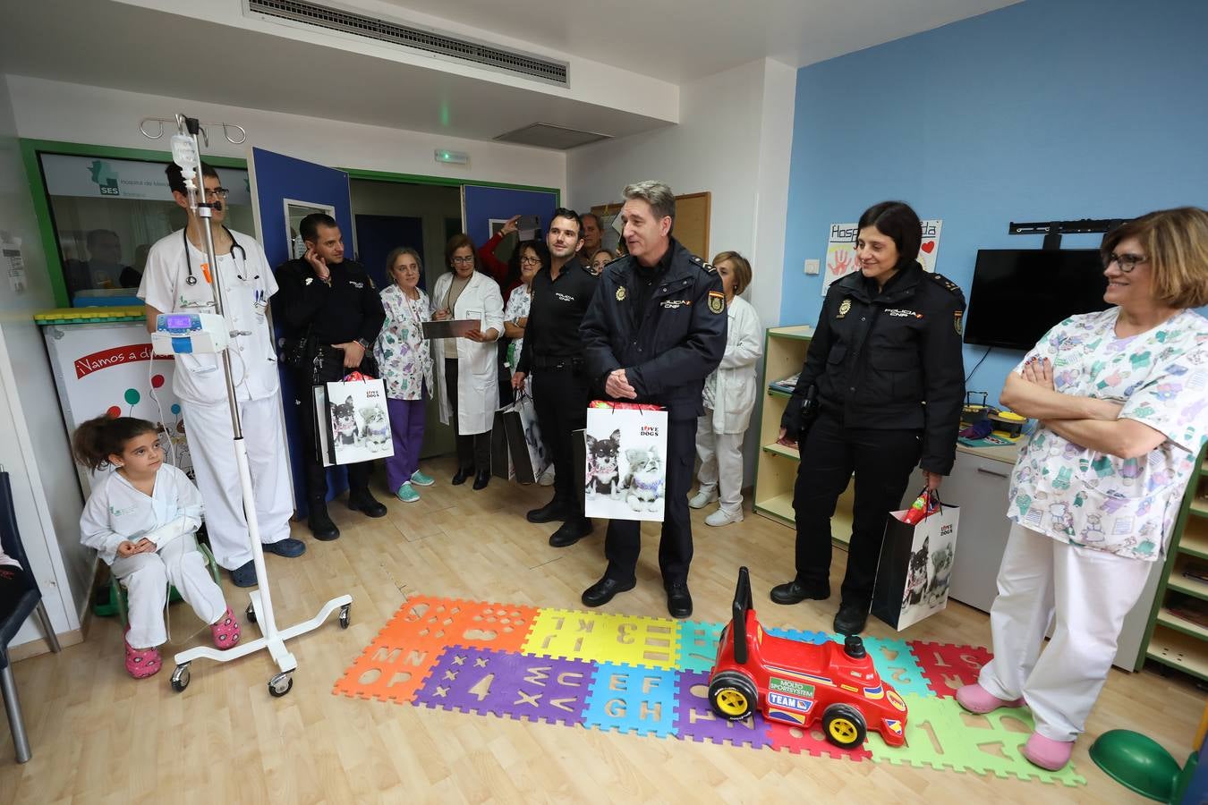
[[[17,134],[127,148],[168,150],[167,136],[147,140],[139,133],[145,117],[172,118],[178,112],[214,122],[237,123],[248,144],[226,142],[210,130],[208,154],[246,157],[256,146],[333,168],[358,168],[459,180],[557,187],[565,194],[567,159],[558,151],[461,140],[405,129],[361,126],[324,118],[204,104],[181,98],[89,87],[27,76],[7,76]],[[435,162],[436,148],[465,151],[469,165]]]

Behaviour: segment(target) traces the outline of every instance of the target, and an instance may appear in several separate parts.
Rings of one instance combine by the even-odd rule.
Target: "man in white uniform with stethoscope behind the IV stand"
[[[188,209],[180,168],[168,165],[168,186],[176,203]],[[277,373],[277,354],[268,328],[268,299],[277,281],[265,250],[255,238],[223,226],[226,188],[217,173],[202,167],[205,202],[214,205],[210,233],[223,288],[222,310],[232,331],[231,369],[243,436],[248,447],[256,521],[266,553],[300,556],[306,546],[290,537],[294,497]],[[201,220],[188,214],[185,229],[173,232],[147,252],[139,298],[146,302],[147,329],[155,332],[161,313],[213,313],[213,273],[203,268],[205,246]],[[178,355],[172,390],[185,413],[185,439],[193,461],[197,488],[205,502],[205,527],[219,565],[231,571],[236,587],[256,584],[248,541],[243,490],[234,460],[234,436],[227,407],[226,380],[219,355]]]

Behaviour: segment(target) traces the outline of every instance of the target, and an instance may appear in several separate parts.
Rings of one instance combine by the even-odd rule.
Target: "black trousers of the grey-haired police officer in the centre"
[[[667,422],[667,501],[663,508],[663,532],[658,541],[658,570],[663,584],[686,582],[692,562],[692,521],[687,512],[687,490],[692,485],[696,459],[696,419],[669,419]],[[608,559],[605,576],[631,582],[641,550],[641,523],[610,520],[604,538]]]

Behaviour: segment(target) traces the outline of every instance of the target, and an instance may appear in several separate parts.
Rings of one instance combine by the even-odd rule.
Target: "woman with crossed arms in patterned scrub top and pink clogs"
[[[1069,763],[1208,428],[1208,320],[1191,310],[1208,303],[1208,212],[1151,212],[1100,251],[1114,307],[1049,331],[1000,395],[1039,425],[1011,474],[994,659],[957,692],[976,713],[1027,704],[1023,754],[1050,770]]]

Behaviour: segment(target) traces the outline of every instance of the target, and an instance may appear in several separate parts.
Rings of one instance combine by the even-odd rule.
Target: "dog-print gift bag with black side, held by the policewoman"
[[[960,523],[960,507],[947,503],[914,525],[908,512],[889,517],[872,595],[872,614],[898,631],[947,606]]]

